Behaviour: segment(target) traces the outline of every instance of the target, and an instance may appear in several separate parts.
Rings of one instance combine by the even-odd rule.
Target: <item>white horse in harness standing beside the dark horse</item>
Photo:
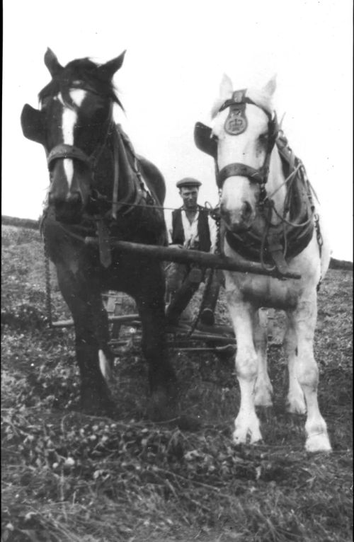
[[[301,279],[282,280],[224,272],[241,390],[233,436],[236,443],[262,438],[255,406],[270,406],[273,388],[267,371],[265,311],[260,309],[273,307],[287,315],[287,410],[307,412],[307,451],[330,451],[314,359],[317,288],[329,267],[328,236],[304,167],[278,125],[274,91],[275,78],[264,88],[234,92],[232,81],[224,76],[212,110],[212,139],[205,137],[203,125],[195,132],[197,146],[215,154],[224,254],[240,262],[261,261],[275,272],[301,274]]]

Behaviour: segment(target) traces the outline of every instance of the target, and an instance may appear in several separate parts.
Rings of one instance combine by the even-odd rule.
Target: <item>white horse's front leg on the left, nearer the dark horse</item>
[[[236,335],[235,364],[241,392],[233,437],[236,444],[248,440],[253,443],[262,439],[254,402],[258,376],[258,355],[253,344],[254,311],[249,304],[235,301],[232,292],[227,293],[227,302]]]

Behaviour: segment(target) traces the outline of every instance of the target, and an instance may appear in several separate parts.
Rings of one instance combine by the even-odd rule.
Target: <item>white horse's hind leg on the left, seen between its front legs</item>
[[[272,406],[273,386],[268,375],[267,364],[267,312],[259,309],[253,316],[253,343],[258,356],[258,374],[254,403],[257,406]]]

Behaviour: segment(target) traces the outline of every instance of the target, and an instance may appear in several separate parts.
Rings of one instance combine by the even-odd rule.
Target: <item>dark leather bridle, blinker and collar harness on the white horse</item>
[[[313,189],[307,178],[302,162],[290,149],[290,146],[278,125],[277,116],[271,115],[267,110],[256,104],[246,96],[246,90],[236,91],[230,100],[226,100],[219,108],[219,112],[229,108],[229,114],[224,123],[224,129],[231,135],[241,134],[246,130],[247,119],[245,115],[246,104],[256,105],[268,117],[268,142],[265,151],[265,160],[259,169],[247,166],[244,163],[231,163],[219,171],[217,165],[217,140],[212,136],[212,129],[201,122],[195,125],[195,144],[201,151],[209,154],[215,160],[215,176],[219,194],[221,195],[224,181],[232,176],[249,178],[252,183],[260,186],[258,211],[265,220],[265,229],[262,233],[253,227],[242,233],[224,232],[227,243],[239,255],[247,260],[261,262],[262,265],[271,265],[280,272],[287,270],[287,259],[294,258],[307,247],[311,241],[314,227],[316,227],[317,241],[321,256],[321,233],[319,231],[318,217],[315,216],[312,201]],[[277,146],[282,167],[285,173],[286,195],[285,204],[280,214],[275,209],[268,195],[266,183],[269,175],[270,156]],[[273,225],[273,213],[280,219],[280,223]]]

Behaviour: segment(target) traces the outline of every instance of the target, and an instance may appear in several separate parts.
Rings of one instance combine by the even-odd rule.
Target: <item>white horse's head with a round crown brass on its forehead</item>
[[[220,212],[227,229],[234,233],[263,227],[258,207],[265,195],[278,133],[271,102],[274,91],[275,79],[271,79],[260,91],[234,92],[232,81],[224,76],[212,110]]]

